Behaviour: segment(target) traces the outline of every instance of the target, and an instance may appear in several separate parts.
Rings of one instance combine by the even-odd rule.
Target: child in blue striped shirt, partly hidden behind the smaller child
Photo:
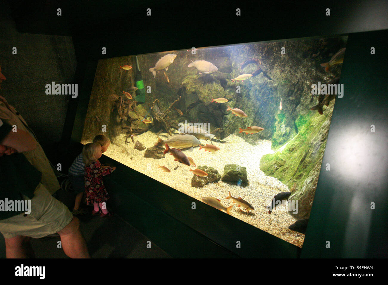
[[[101,152],[106,152],[111,141],[107,136],[98,135],[93,139],[94,143],[99,143],[101,145]],[[81,152],[80,155],[74,159],[73,164],[69,168],[69,180],[73,185],[74,193],[76,193],[75,202],[74,202],[74,215],[83,215],[88,212],[86,208],[80,208],[81,200],[83,197],[83,192],[85,192],[85,160]]]

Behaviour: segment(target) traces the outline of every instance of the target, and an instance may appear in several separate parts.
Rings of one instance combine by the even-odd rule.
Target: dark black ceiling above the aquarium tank
[[[73,36],[77,59],[388,29],[388,2],[10,0],[22,33]],[[57,16],[57,9],[62,16]],[[151,8],[151,16],[146,9]],[[236,16],[236,9],[241,16]],[[331,16],[326,16],[329,8]],[[140,41],[146,45],[138,45]]]

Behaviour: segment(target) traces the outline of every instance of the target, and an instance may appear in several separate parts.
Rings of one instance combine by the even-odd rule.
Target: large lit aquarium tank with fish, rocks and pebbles
[[[99,60],[81,143],[104,134],[108,157],[302,247],[346,41]]]

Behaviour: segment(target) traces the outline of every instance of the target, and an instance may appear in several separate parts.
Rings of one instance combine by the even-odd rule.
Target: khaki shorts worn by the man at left
[[[52,197],[47,189],[39,183],[35,196],[31,199],[31,213],[18,214],[8,219],[0,220],[0,232],[5,238],[25,235],[41,238],[62,230],[73,219],[69,209]],[[29,200],[23,196],[23,199]]]

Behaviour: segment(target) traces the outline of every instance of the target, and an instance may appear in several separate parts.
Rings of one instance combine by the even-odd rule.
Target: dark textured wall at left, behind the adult
[[[70,95],[46,95],[45,85],[73,83],[76,58],[70,36],[19,33],[6,3],[0,9],[0,95],[16,107],[46,152],[61,140]],[[28,17],[28,15],[26,15]],[[17,54],[12,54],[12,48]],[[50,158],[50,155],[48,155]]]

